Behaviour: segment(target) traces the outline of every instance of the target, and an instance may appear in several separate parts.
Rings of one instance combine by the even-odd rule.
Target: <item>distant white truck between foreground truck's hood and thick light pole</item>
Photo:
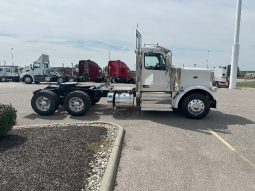
[[[217,87],[228,87],[228,73],[225,67],[214,68],[213,85]]]

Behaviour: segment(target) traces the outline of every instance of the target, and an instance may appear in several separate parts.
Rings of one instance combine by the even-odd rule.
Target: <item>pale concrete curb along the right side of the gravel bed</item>
[[[122,142],[123,142],[123,138],[125,134],[123,127],[114,123],[108,123],[108,124],[118,127],[119,131],[116,136],[116,139],[112,148],[112,153],[111,153],[111,156],[109,157],[108,164],[105,169],[99,191],[112,191],[114,188],[115,178],[116,178],[117,170],[119,166]]]

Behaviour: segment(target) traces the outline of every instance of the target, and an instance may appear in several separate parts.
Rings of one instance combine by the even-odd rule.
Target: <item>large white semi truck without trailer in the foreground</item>
[[[142,36],[136,31],[136,88],[84,86],[66,83],[48,86],[34,92],[31,105],[40,115],[51,115],[62,105],[71,115],[84,115],[101,97],[113,107],[133,106],[142,111],[179,109],[192,119],[205,117],[216,108],[211,70],[178,68],[172,63],[170,50],[155,46],[142,47]]]

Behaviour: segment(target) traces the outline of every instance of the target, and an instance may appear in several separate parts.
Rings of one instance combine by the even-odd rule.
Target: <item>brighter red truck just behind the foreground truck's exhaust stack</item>
[[[121,60],[113,60],[108,62],[108,75],[111,82],[134,83],[135,81],[134,74]]]

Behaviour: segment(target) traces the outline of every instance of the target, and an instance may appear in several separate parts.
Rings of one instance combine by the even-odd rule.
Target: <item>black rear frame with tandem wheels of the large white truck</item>
[[[77,82],[67,82],[34,91],[31,99],[33,110],[40,115],[52,115],[62,105],[69,114],[80,116],[84,115],[102,97],[107,97],[109,92],[113,92],[113,107],[116,104],[116,95],[128,93],[135,96],[136,93],[133,88],[114,90],[106,88],[104,84],[100,86],[77,84]]]

